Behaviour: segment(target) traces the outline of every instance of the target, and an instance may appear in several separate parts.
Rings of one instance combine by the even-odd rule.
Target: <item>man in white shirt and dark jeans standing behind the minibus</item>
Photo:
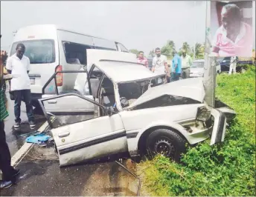
[[[25,45],[22,43],[17,44],[16,53],[13,56],[10,56],[6,63],[8,73],[17,76],[10,81],[10,90],[13,91],[15,98],[14,114],[16,124],[14,125],[14,128],[16,129],[20,127],[22,121],[20,118],[22,97],[26,104],[29,124],[31,128],[36,126],[33,117],[33,107],[31,104],[31,81],[28,77],[31,62],[28,57],[24,56],[24,53]]]

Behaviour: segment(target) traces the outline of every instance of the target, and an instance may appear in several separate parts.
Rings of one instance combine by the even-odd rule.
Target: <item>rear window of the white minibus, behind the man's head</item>
[[[49,64],[55,62],[54,40],[30,40],[17,41],[13,43],[10,56],[16,53],[17,44],[25,45],[25,56],[27,56],[31,64]]]

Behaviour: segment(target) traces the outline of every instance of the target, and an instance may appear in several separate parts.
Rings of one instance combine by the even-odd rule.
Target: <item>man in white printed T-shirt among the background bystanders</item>
[[[170,70],[167,65],[167,58],[166,56],[161,55],[160,48],[156,48],[156,56],[153,58],[152,61],[152,72],[156,74],[166,74],[167,79],[170,79]],[[161,80],[159,80],[161,83]]]

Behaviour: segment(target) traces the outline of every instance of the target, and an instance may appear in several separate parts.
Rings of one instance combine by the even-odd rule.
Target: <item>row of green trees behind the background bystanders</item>
[[[173,59],[173,50],[176,50],[175,43],[172,40],[168,40],[167,43],[163,47],[161,47],[161,54],[164,56],[167,56],[167,59]],[[182,55],[182,50],[185,50],[186,53],[191,56],[191,58],[193,58],[193,55],[195,53],[195,59],[204,59],[205,44],[196,43],[196,46],[195,46],[196,52],[194,52],[193,47],[191,47],[188,44],[188,42],[185,41],[182,44],[182,47],[179,48],[179,50],[176,50],[180,56]],[[139,50],[132,49],[132,50],[129,50],[129,52],[134,53],[138,56]],[[150,53],[148,54],[148,56],[154,57],[155,49],[150,50]]]

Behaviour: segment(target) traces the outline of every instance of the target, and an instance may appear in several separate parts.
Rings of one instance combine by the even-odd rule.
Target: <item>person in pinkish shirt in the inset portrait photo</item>
[[[252,56],[252,27],[243,22],[236,4],[226,4],[221,12],[222,26],[214,35],[212,56]]]

